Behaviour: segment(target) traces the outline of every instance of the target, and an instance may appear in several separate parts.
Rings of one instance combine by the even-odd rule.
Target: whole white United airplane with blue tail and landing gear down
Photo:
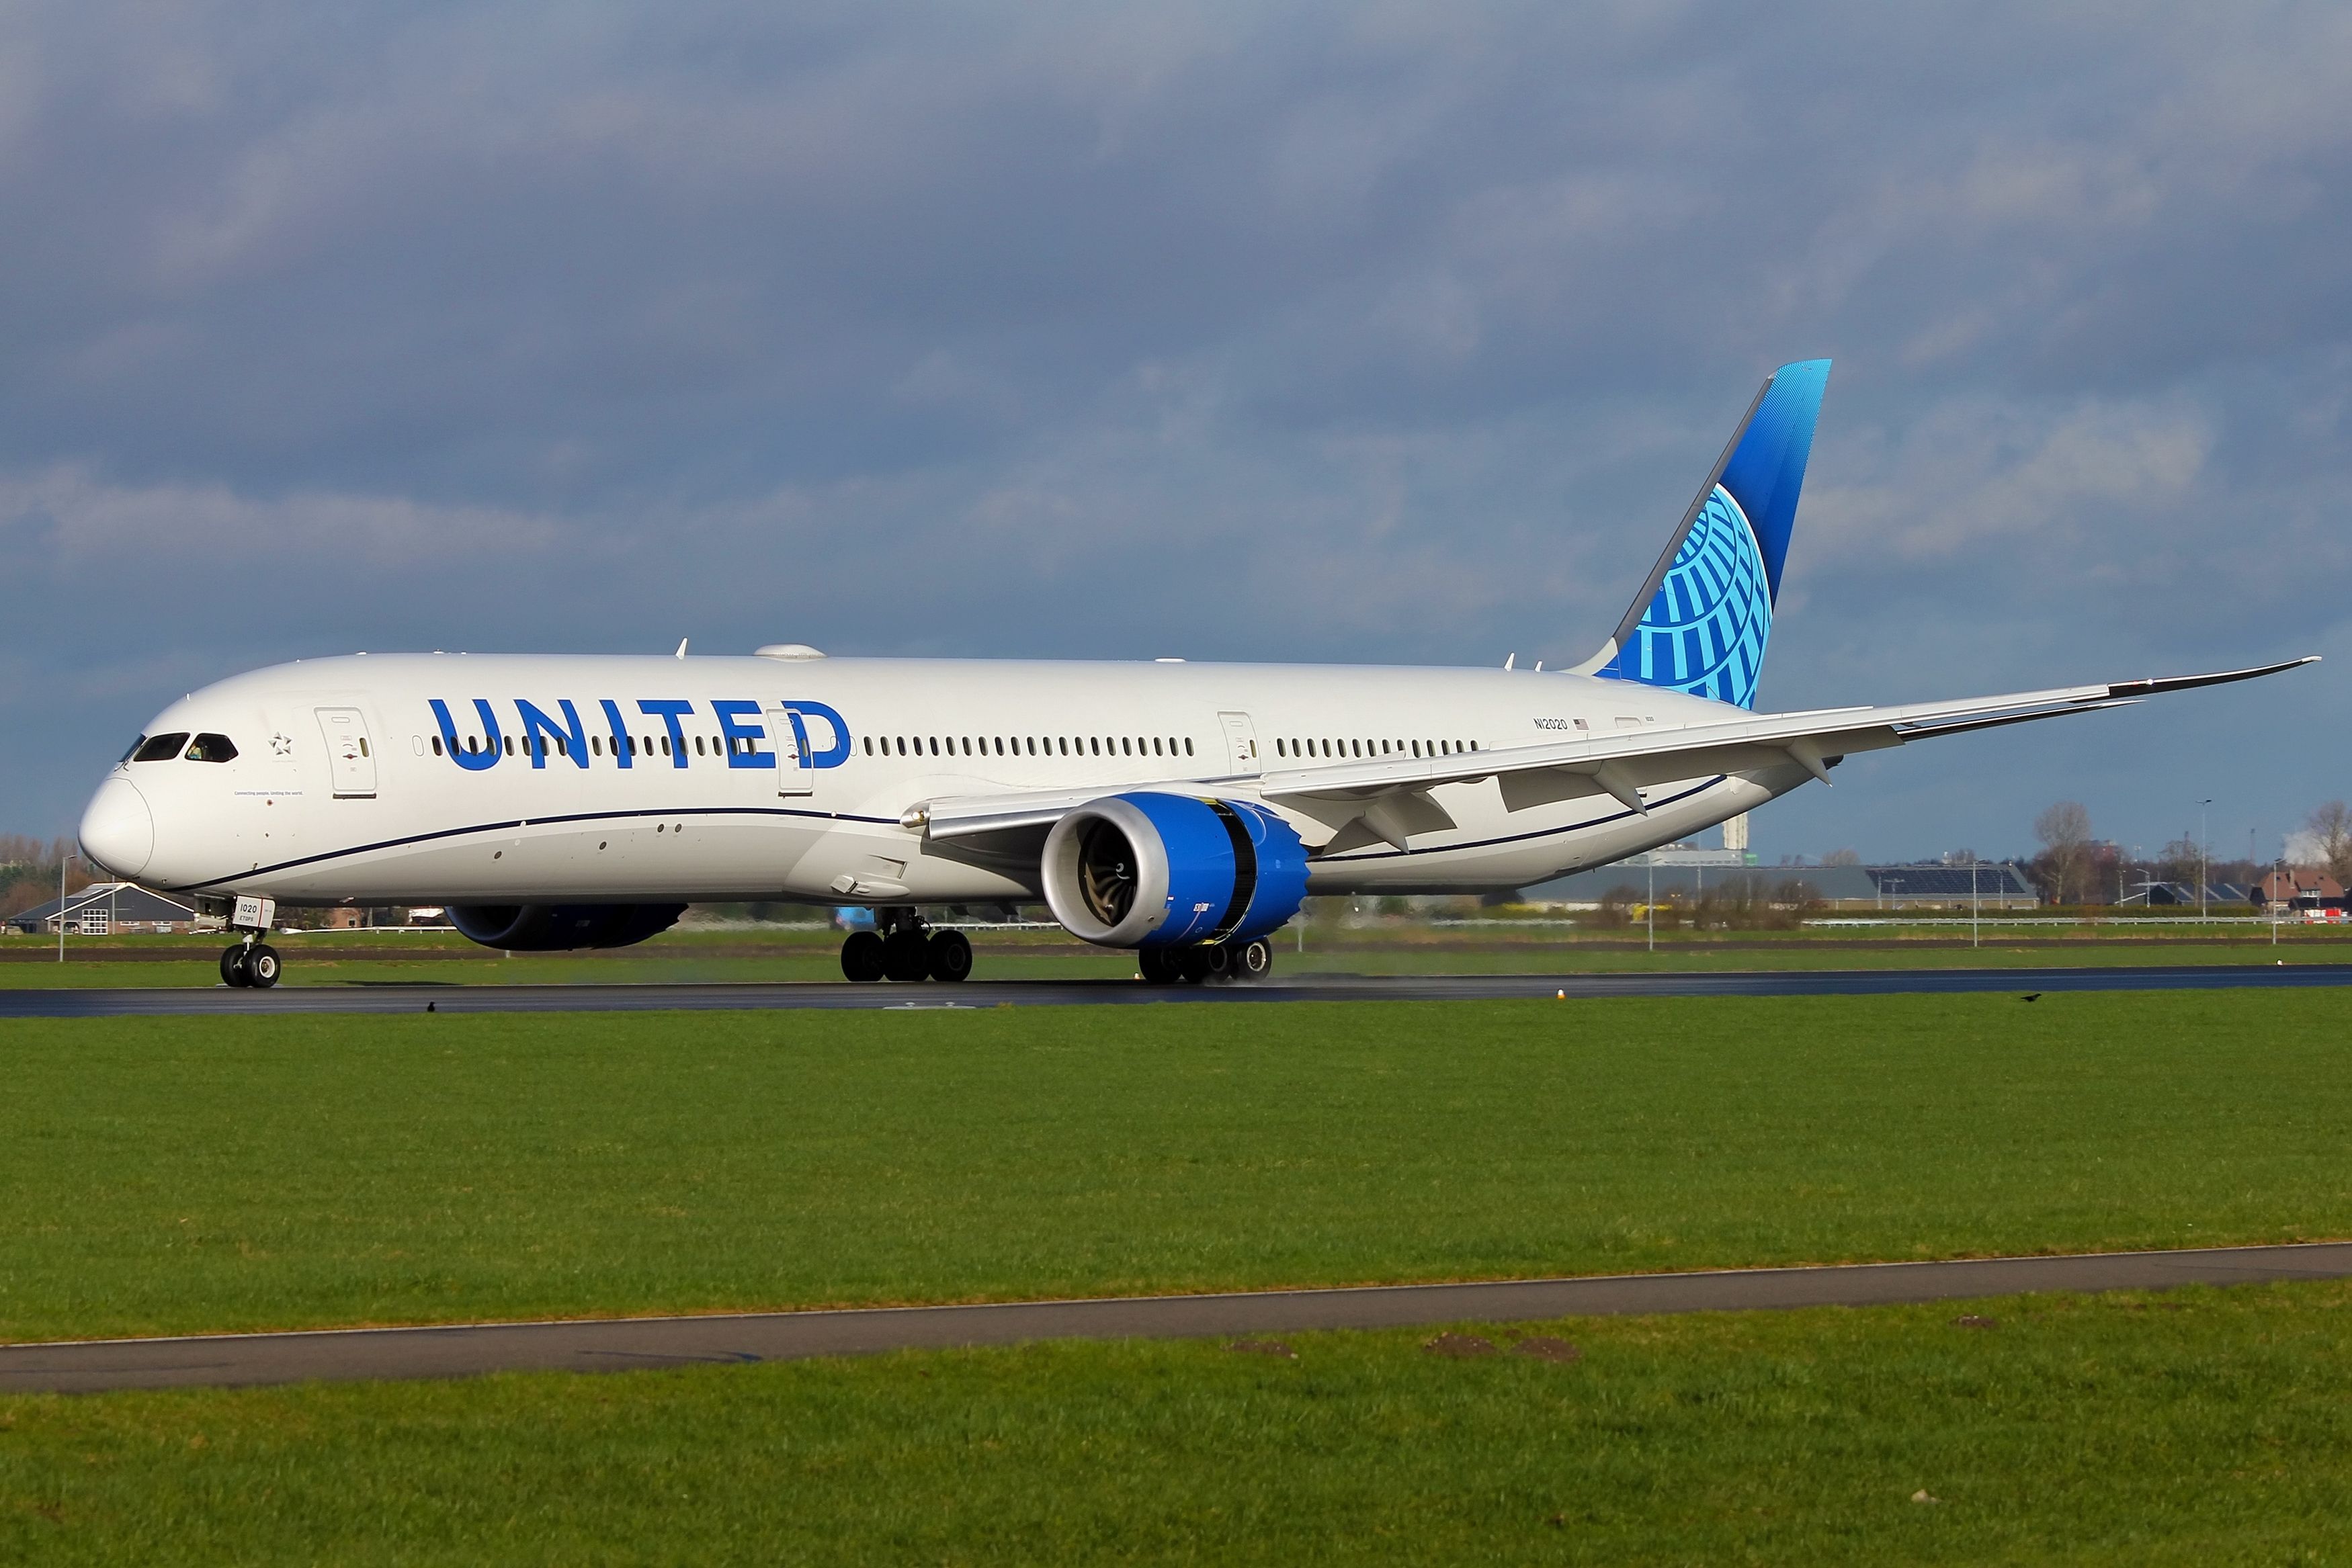
[[[1148,983],[1268,973],[1315,893],[1489,893],[1684,839],[1856,752],[2312,658],[1755,712],[1830,362],[1773,371],[1618,628],[1569,670],[350,654],[172,703],[82,853],[226,914],[442,905],[487,947],[623,947],[696,900],[873,907],[849,980],[962,980],[924,910],[1044,900]]]

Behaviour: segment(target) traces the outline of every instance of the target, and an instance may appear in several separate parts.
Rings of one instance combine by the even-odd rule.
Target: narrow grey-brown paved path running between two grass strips
[[[1865,1262],[1809,1269],[1609,1274],[1458,1286],[1141,1295],[983,1307],[753,1312],[567,1324],[350,1328],[329,1333],[78,1340],[0,1347],[0,1392],[245,1387],[381,1378],[470,1378],[515,1371],[616,1373],[694,1363],[863,1356],[1028,1340],[1124,1340],[1430,1328],[1439,1324],[1618,1316],[1630,1312],[1745,1312],[1764,1307],[1884,1307],[2027,1291],[2164,1291],[2352,1276],[2352,1244],[2246,1246],[2178,1253]]]

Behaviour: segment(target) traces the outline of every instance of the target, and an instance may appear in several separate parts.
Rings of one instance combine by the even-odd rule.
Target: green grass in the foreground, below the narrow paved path
[[[2347,1307],[2241,1286],[1524,1326],[1576,1361],[1355,1333],[19,1396],[0,1559],[2340,1561]]]

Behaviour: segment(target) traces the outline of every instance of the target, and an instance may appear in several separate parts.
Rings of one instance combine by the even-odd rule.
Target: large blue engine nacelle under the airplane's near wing
[[[1044,839],[1044,900],[1101,947],[1195,947],[1265,936],[1308,896],[1308,849],[1265,806],[1105,795]]]

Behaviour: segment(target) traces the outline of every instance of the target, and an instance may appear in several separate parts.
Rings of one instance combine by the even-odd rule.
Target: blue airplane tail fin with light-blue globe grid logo
[[[1828,383],[1828,360],[1771,374],[1616,637],[1581,665],[1585,675],[1755,708]]]

